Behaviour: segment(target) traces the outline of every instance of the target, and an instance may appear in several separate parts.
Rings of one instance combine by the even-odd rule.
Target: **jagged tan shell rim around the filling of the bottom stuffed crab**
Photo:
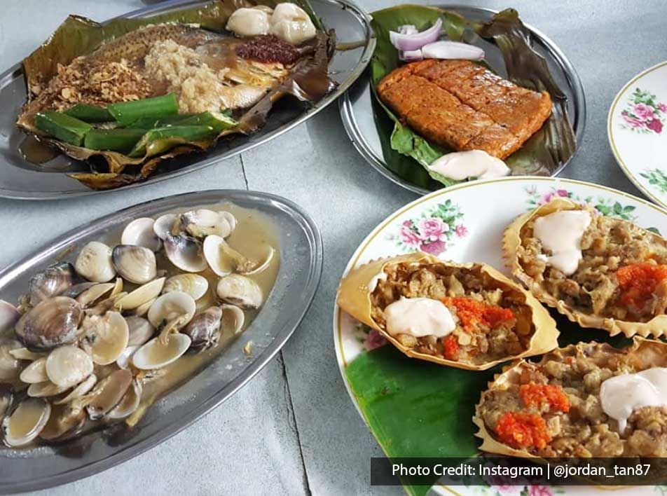
[[[561,356],[573,356],[577,352],[584,352],[586,348],[590,347],[599,347],[603,350],[614,353],[614,354],[628,354],[633,357],[633,366],[638,370],[645,370],[650,367],[665,367],[667,366],[667,343],[661,341],[655,341],[650,339],[640,338],[635,336],[633,339],[633,344],[629,347],[619,350],[614,348],[612,345],[607,343],[596,343],[595,341],[591,343],[579,343],[577,345],[569,345],[563,348],[559,348],[558,352],[561,352]],[[556,350],[554,350],[556,351]],[[541,457],[528,453],[525,450],[517,450],[503,444],[500,441],[496,441],[493,435],[486,428],[486,424],[482,416],[480,415],[481,404],[484,399],[484,395],[487,394],[490,390],[499,390],[505,389],[506,385],[511,383],[518,382],[518,378],[521,376],[521,372],[526,369],[535,369],[538,365],[544,364],[546,361],[554,359],[553,354],[545,354],[542,359],[537,362],[537,364],[525,361],[518,360],[514,364],[508,365],[502,369],[502,372],[496,374],[493,378],[493,381],[488,383],[488,388],[481,394],[479,403],[475,406],[475,415],[472,418],[474,425],[479,427],[479,431],[476,432],[475,436],[482,439],[482,445],[479,447],[480,451],[486,453],[494,453],[497,455],[507,455],[507,456],[516,456],[522,458],[533,458],[536,460],[543,460]],[[600,486],[606,487],[606,486]],[[614,486],[618,487],[618,486]]]

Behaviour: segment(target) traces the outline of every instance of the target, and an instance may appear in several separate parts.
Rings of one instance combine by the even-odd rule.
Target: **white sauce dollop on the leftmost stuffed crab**
[[[401,298],[385,308],[387,332],[415,338],[442,338],[456,329],[454,317],[440,301],[431,298]]]

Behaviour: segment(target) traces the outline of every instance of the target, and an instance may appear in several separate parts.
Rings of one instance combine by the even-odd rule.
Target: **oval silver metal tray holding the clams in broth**
[[[36,490],[95,474],[129,460],[169,439],[231,397],[282,348],[310,306],[322,275],[322,239],[310,216],[293,202],[268,193],[216,190],[151,200],[87,223],[0,273],[0,298],[16,299],[30,275],[54,263],[66,250],[118,233],[140,216],[155,216],[177,207],[222,201],[256,209],[277,227],[280,270],[259,315],[199,373],[156,401],[132,429],[116,425],[60,445],[26,450],[0,447],[0,493]],[[67,252],[64,259],[73,259]],[[254,343],[251,357],[242,351]]]

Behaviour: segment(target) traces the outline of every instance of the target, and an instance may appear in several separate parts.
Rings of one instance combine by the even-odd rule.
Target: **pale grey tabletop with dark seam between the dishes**
[[[392,2],[360,4],[373,11]],[[579,71],[588,123],[584,143],[563,177],[640,194],[614,162],[605,123],[621,85],[667,57],[667,2],[488,0],[483,5],[516,7]],[[141,6],[139,0],[0,0],[0,71],[28,55],[69,13],[104,20]],[[74,200],[0,200],[0,267],[103,214],[209,188],[277,193],[312,214],[324,238],[324,275],[312,308],[283,352],[200,422],[129,462],[48,494],[400,494],[399,488],[369,487],[369,457],[381,452],[338,373],[331,311],[338,277],[357,244],[415,195],[357,155],[336,104],[240,158],[170,181]]]

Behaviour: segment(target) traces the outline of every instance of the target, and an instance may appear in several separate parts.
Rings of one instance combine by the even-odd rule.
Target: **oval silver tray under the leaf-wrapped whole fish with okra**
[[[121,17],[145,18],[160,13],[177,11],[180,8],[205,4],[202,0],[173,0],[156,6],[142,8]],[[269,113],[266,125],[249,136],[234,136],[223,139],[214,149],[204,153],[188,153],[160,164],[149,179],[141,183],[122,186],[136,188],[142,184],[163,181],[187,172],[218,163],[268,142],[294,126],[303,123],[329,105],[347,90],[362,74],[371,60],[375,38],[369,25],[370,18],[348,0],[312,0],[312,8],[322,18],[327,29],[336,30],[338,43],[352,43],[357,48],[336,50],[329,64],[329,75],[338,83],[338,88],[314,105],[298,102],[286,97],[277,102]],[[22,158],[19,146],[25,134],[15,125],[16,116],[25,103],[25,81],[21,64],[16,64],[0,74],[0,197],[25,200],[48,200],[76,195],[102,193],[71,179],[66,172],[88,171],[85,163],[58,156],[43,165],[34,165]],[[121,189],[116,188],[116,189]],[[106,191],[116,191],[106,190]]]

